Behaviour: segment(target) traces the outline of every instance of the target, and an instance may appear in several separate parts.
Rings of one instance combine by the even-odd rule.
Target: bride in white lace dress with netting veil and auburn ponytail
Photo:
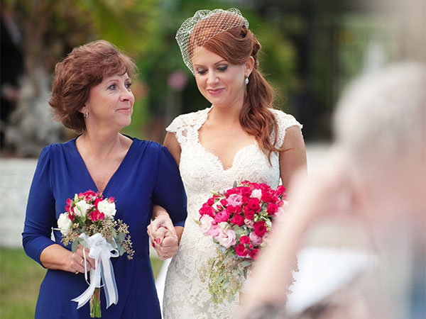
[[[273,188],[281,179],[287,186],[306,165],[302,125],[272,108],[271,86],[258,69],[261,45],[248,27],[237,9],[202,10],[176,35],[185,64],[212,106],[178,116],[166,128],[164,145],[180,167],[188,217],[165,279],[164,318],[237,316],[238,302],[216,307],[197,272],[215,251],[194,222],[210,191],[245,179]]]

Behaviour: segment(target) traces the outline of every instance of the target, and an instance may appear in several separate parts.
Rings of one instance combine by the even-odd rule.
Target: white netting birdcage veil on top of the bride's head
[[[205,43],[219,33],[231,28],[246,26],[249,21],[241,16],[239,9],[199,10],[187,18],[176,33],[176,40],[182,52],[183,62],[194,74],[191,59]]]

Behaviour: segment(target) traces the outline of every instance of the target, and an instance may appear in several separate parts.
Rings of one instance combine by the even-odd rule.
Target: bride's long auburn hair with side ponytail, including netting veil
[[[277,121],[271,112],[273,89],[258,68],[261,44],[251,30],[249,22],[238,9],[197,11],[178,30],[176,39],[187,67],[194,74],[192,57],[201,47],[221,56],[233,65],[244,65],[253,57],[254,67],[246,86],[244,105],[239,121],[247,133],[254,135],[261,150],[271,157],[275,147]],[[271,140],[271,135],[275,138]]]

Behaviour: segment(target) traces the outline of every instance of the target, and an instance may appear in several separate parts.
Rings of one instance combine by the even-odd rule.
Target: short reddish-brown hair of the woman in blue
[[[75,47],[55,66],[55,79],[49,104],[55,119],[67,128],[82,132],[86,129],[79,111],[89,98],[93,86],[114,74],[134,77],[136,65],[115,45],[106,40],[89,42]]]

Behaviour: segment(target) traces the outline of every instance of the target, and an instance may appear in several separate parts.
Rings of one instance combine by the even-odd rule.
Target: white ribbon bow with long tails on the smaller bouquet
[[[84,291],[80,296],[72,299],[78,303],[77,309],[84,306],[90,300],[94,289],[101,287],[101,277],[104,283],[105,297],[107,298],[107,308],[112,303],[119,302],[119,293],[117,291],[114,269],[111,264],[110,257],[119,257],[119,251],[114,249],[101,234],[96,233],[92,236],[87,236],[82,233],[82,239],[89,246],[89,257],[94,259],[96,269],[90,269],[90,284],[89,288]],[[87,281],[87,268],[86,268],[86,253],[84,254],[84,278]]]

